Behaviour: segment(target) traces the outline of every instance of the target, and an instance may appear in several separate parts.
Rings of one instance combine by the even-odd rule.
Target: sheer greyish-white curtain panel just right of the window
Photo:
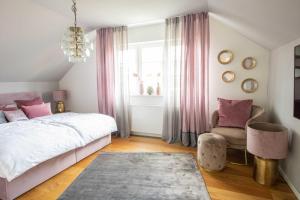
[[[164,50],[164,122],[163,140],[175,142],[180,135],[180,18],[166,19]]]

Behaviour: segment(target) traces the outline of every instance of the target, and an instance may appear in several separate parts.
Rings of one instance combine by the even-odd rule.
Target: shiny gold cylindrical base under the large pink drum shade
[[[255,156],[253,178],[262,185],[273,185],[278,177],[278,160]]]

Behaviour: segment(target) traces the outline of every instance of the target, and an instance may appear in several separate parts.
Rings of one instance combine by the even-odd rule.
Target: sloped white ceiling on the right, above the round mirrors
[[[300,37],[300,0],[208,0],[212,16],[274,49]]]

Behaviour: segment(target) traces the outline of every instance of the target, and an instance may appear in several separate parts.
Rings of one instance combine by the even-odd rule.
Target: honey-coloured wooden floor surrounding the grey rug
[[[57,199],[101,152],[189,152],[196,155],[195,148],[187,148],[178,144],[166,144],[160,139],[136,136],[129,139],[113,138],[111,145],[35,187],[18,199]],[[257,184],[251,177],[251,166],[238,166],[228,163],[222,172],[208,173],[202,169],[200,171],[212,200],[297,199],[283,180],[279,180],[272,188]]]

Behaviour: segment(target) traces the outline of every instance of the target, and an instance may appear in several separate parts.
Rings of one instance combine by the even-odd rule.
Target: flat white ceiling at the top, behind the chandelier
[[[71,0],[33,0],[63,16],[73,17]],[[88,29],[129,25],[207,10],[207,0],[77,0],[78,18]]]

